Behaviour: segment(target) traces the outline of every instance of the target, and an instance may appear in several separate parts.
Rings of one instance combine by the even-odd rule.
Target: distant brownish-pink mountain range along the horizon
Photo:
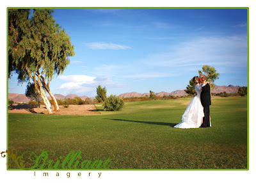
[[[215,88],[214,90],[212,90],[212,93],[221,93],[221,92],[227,92],[227,93],[237,93],[239,87],[241,86],[233,86],[232,84],[228,85],[228,86],[217,86],[215,84]],[[128,97],[145,97],[146,95],[150,95],[149,93],[137,93],[137,92],[130,92],[130,93],[123,93],[121,95],[118,95],[120,97],[124,97],[124,98],[128,98]],[[185,90],[175,90],[171,93],[168,92],[159,92],[156,93],[157,96],[159,97],[163,97],[164,95],[168,96],[168,95],[173,95],[173,96],[182,96],[182,95],[188,95]],[[56,97],[56,99],[74,99],[75,97],[80,97],[76,94],[68,94],[67,96],[65,95],[61,95],[61,94],[54,94],[54,96]],[[50,97],[49,97],[50,98]],[[87,96],[81,96],[81,99],[95,99],[95,97],[87,97]],[[26,97],[25,94],[18,94],[18,93],[8,93],[8,100],[13,100],[13,102],[29,102],[29,98]]]

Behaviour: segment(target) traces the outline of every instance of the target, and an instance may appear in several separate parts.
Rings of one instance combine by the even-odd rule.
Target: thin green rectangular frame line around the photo
[[[170,170],[233,170],[233,171],[241,171],[241,170],[249,170],[249,7],[7,7],[6,8],[6,71],[8,71],[8,10],[9,9],[247,9],[247,169],[31,169],[29,171],[126,171],[126,170],[149,170],[149,171],[170,171]],[[8,72],[6,72],[6,149],[8,150]],[[22,170],[22,169],[9,169],[8,168],[8,154],[6,154],[6,170]],[[28,170],[23,170],[28,171]]]

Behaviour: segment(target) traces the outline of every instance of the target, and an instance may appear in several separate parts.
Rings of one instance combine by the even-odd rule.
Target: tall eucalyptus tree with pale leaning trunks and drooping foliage
[[[45,90],[51,96],[55,110],[58,110],[58,102],[51,93],[49,83],[54,76],[63,73],[70,63],[68,56],[75,54],[70,36],[55,24],[53,12],[36,9],[31,19],[28,10],[9,10],[8,15],[9,77],[15,71],[20,83],[32,79],[49,114],[52,109]]]

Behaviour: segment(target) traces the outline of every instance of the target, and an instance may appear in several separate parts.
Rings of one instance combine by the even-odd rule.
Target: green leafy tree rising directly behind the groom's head
[[[198,70],[198,74],[199,76],[205,75],[207,77],[212,89],[215,88],[214,81],[219,79],[220,76],[220,73],[217,73],[216,69],[209,65],[204,65],[202,70]]]

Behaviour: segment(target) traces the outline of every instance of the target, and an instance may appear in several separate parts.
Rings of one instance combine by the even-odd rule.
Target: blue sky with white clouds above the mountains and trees
[[[203,65],[247,86],[247,9],[55,9],[76,55],[52,93],[95,97],[184,90]],[[9,93],[24,93],[13,74]]]

